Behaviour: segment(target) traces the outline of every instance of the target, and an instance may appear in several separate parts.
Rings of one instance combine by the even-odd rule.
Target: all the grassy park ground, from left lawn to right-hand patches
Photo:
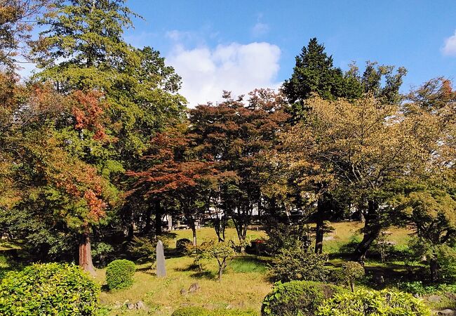
[[[326,253],[330,254],[328,265],[340,266],[346,258],[342,249],[350,242],[356,241],[362,223],[333,223],[335,231],[328,234],[324,244]],[[388,240],[398,249],[405,247],[410,238],[410,230],[391,228]],[[175,231],[176,239],[189,238],[191,230]],[[198,240],[203,242],[216,239],[213,228],[198,230]],[[249,230],[248,239],[266,237],[262,231]],[[236,240],[236,231],[227,229],[227,239]],[[170,251],[174,242],[170,242]],[[189,256],[170,257],[166,259],[167,277],[157,278],[151,263],[138,264],[134,276],[134,284],[130,289],[107,291],[105,285],[105,269],[97,270],[96,279],[102,284],[100,301],[109,309],[109,315],[170,315],[173,310],[182,306],[196,305],[208,309],[239,309],[260,312],[264,296],[271,290],[267,265],[271,258],[253,255],[239,256],[229,264],[222,281],[216,281],[217,266],[215,261],[208,261],[201,272],[192,268],[193,259]],[[377,274],[384,275],[385,282],[398,282],[398,277],[405,274],[405,263],[390,260],[387,263],[367,261],[366,271],[371,279]],[[188,290],[193,283],[199,284],[199,290],[182,295],[181,290]],[[363,286],[361,284],[360,286]],[[424,298],[427,301],[427,298]],[[147,310],[128,310],[127,304],[142,301]],[[456,302],[451,298],[441,301],[427,301],[433,310],[456,308]]]

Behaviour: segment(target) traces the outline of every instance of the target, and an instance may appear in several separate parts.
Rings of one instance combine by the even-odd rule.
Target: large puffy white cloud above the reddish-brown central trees
[[[220,101],[222,91],[246,94],[255,88],[278,88],[281,50],[269,43],[232,43],[186,49],[176,44],[166,58],[182,77],[180,93],[189,106]]]

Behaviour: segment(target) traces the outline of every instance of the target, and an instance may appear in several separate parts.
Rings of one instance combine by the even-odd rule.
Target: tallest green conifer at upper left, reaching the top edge
[[[181,119],[185,104],[176,93],[180,77],[159,53],[123,41],[130,17],[136,16],[124,2],[58,1],[55,13],[39,21],[44,30],[32,50],[42,69],[36,79],[51,82],[58,92],[102,91],[105,141],[93,141],[90,120],[76,129],[59,126],[60,137],[70,143],[67,150],[96,166],[119,190],[125,189],[123,172],[140,168],[138,157],[151,135]]]

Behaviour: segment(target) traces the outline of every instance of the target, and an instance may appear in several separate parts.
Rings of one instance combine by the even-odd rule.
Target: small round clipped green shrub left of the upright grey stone
[[[106,283],[109,289],[126,289],[133,285],[135,263],[129,260],[114,260],[107,265]]]

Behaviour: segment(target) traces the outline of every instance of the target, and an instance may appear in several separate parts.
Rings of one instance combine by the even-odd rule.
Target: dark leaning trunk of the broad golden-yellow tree
[[[370,200],[368,201],[368,206],[366,222],[364,223],[363,240],[358,244],[355,250],[356,260],[360,263],[364,263],[370,245],[380,235],[380,231],[382,230],[378,213],[378,204],[375,201]]]

